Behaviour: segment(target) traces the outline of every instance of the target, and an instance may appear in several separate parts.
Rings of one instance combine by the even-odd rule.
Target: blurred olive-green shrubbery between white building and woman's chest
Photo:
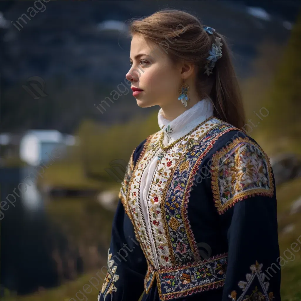
[[[114,160],[129,162],[130,155],[140,142],[160,130],[158,112],[147,119],[136,116],[129,123],[104,126],[92,120],[84,120],[79,126],[81,160],[85,175],[99,181],[114,182],[106,172]],[[118,183],[119,185],[119,183]]]

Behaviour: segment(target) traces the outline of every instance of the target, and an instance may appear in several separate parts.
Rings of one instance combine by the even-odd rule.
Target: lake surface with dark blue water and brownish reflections
[[[7,201],[8,197],[14,202],[2,203],[7,210],[1,210],[4,216],[0,221],[0,285],[18,294],[31,293],[39,287],[54,287],[60,285],[63,279],[71,278],[70,275],[79,275],[83,272],[84,251],[91,249],[91,246],[95,249],[95,265],[98,264],[98,253],[107,252],[106,246],[102,244],[105,236],[100,235],[103,226],[93,224],[93,218],[104,221],[97,213],[101,206],[91,198],[76,199],[74,202],[64,197],[59,201],[51,200],[42,196],[32,183],[30,187],[27,185],[26,191],[25,185],[21,184],[19,188],[25,191],[21,194],[18,185],[29,175],[31,169],[32,167],[0,169],[1,201]],[[52,203],[51,210],[48,210]],[[97,206],[96,210],[94,206]],[[55,223],[56,218],[58,223]],[[110,224],[107,221],[105,223]],[[64,228],[67,230],[64,231]],[[88,237],[89,241],[85,242],[83,237]],[[74,243],[71,244],[70,241]],[[84,255],[79,252],[78,241],[81,241]],[[65,254],[64,260],[61,260],[61,254]],[[91,254],[88,256],[91,257]],[[61,263],[60,266],[58,262]],[[67,266],[70,262],[71,268]]]

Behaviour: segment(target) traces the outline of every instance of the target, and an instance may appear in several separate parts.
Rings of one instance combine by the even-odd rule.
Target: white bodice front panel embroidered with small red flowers
[[[220,122],[219,119],[211,119],[208,122],[208,126],[204,126],[204,124],[199,126],[194,132],[178,141],[167,150],[162,150],[159,146],[159,138],[162,133],[162,130],[160,130],[151,138],[143,156],[136,164],[129,186],[127,199],[128,208],[132,212],[135,228],[143,246],[144,253],[146,253],[147,259],[151,262],[153,267],[166,268],[172,266],[168,241],[166,239],[167,235],[164,229],[166,217],[164,216],[165,213],[161,212],[161,205],[163,205],[162,207],[164,208],[164,204],[161,202],[165,201],[163,200],[164,188],[170,183],[170,181],[168,182],[168,179],[171,180],[179,159],[185,155],[188,149],[193,144],[199,144],[200,137]],[[159,155],[157,154],[158,151],[160,151]],[[160,160],[158,159],[159,163],[155,169],[154,177],[149,189],[147,199],[149,214],[148,216],[144,216],[141,211],[139,197],[141,177],[146,166],[156,154]],[[178,210],[180,209],[181,208]],[[149,233],[147,225],[150,225],[152,233]],[[156,266],[156,262],[158,262],[159,267]]]

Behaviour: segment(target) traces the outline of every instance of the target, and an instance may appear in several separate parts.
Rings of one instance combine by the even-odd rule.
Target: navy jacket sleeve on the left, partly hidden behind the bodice
[[[139,145],[140,146],[140,145]],[[138,146],[138,148],[139,148]],[[98,301],[136,301],[144,290],[147,262],[141,250],[130,213],[127,212],[126,194],[134,168],[133,151],[119,192],[119,202],[113,219],[107,275],[98,294]]]

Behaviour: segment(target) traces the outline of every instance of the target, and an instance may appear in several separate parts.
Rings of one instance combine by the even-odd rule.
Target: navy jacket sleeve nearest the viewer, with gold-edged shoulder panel
[[[280,301],[275,181],[268,156],[239,137],[212,158],[215,206],[228,240],[222,301]]]

